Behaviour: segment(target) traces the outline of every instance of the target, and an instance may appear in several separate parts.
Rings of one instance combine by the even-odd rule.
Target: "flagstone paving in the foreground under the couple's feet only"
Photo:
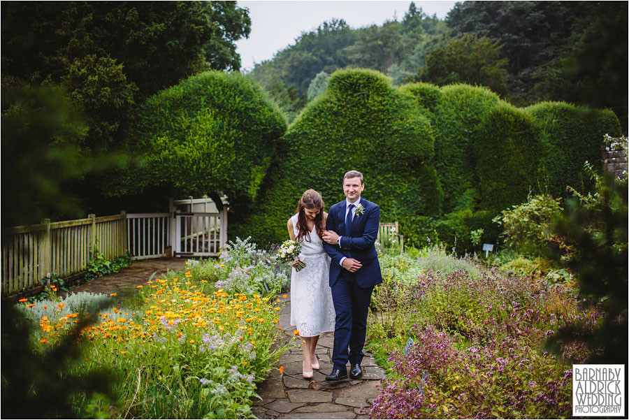
[[[282,340],[290,341],[295,327],[291,326],[290,294],[281,312],[279,326]],[[298,344],[298,342],[295,342]],[[317,343],[317,359],[321,369],[308,380],[301,375],[301,345],[280,356],[269,377],[258,385],[262,400],[254,400],[252,412],[260,419],[366,419],[369,406],[378,396],[384,369],[373,356],[365,352],[363,378],[340,383],[325,382],[332,372],[333,333],[322,334]],[[280,366],[284,372],[280,375]]]

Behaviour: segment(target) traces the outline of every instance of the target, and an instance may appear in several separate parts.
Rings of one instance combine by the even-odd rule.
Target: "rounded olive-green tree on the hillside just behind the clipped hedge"
[[[508,96],[507,59],[501,58],[498,41],[463,35],[435,48],[426,55],[419,79],[435,85],[467,83],[486,86],[500,96]]]

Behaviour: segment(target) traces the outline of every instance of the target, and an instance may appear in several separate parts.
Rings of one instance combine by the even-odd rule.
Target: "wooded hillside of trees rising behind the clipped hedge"
[[[610,108],[626,132],[627,13],[619,1],[465,1],[440,20],[411,3],[401,20],[381,26],[323,22],[248,74],[289,122],[311,100],[317,75],[356,67],[385,73],[394,85],[482,85],[517,106]]]

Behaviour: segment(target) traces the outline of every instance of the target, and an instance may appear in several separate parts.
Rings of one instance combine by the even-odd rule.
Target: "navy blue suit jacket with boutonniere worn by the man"
[[[351,230],[345,231],[345,201],[336,203],[328,212],[326,230],[335,231],[341,238],[341,247],[323,242],[324,249],[332,259],[330,264],[330,287],[334,285],[341,270],[340,265],[343,256],[353,258],[361,262],[363,266],[354,273],[356,282],[360,287],[372,287],[382,283],[382,273],[378,253],[375,249],[375,240],[378,234],[380,222],[380,208],[377,204],[361,198],[361,205],[365,211],[360,216],[354,216]]]

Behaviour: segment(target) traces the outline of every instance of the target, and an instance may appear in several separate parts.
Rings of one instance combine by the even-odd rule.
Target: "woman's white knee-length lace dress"
[[[291,217],[297,236],[297,216]],[[291,274],[291,325],[302,337],[314,337],[334,331],[334,305],[330,288],[330,257],[324,251],[317,229],[310,232],[310,242],[301,241],[301,261],[306,263],[300,271]]]

